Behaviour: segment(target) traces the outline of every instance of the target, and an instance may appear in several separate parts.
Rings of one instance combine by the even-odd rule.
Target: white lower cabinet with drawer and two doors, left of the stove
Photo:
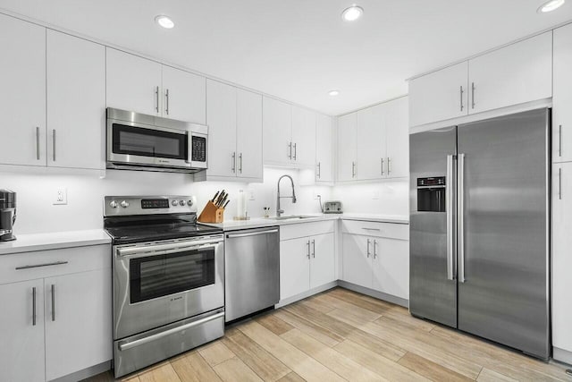
[[[49,381],[112,359],[109,245],[4,255],[0,380]]]

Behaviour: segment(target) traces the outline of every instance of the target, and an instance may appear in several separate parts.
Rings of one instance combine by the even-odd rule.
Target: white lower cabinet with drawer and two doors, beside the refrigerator
[[[359,221],[342,225],[342,279],[408,300],[408,225]]]

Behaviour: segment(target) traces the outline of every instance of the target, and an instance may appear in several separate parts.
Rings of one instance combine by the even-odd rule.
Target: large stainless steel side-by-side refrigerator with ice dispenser
[[[547,359],[550,109],[410,135],[409,310]]]

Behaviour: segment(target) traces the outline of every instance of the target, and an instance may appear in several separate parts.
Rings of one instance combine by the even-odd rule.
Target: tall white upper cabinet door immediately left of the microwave
[[[47,30],[47,164],[105,169],[105,47]]]

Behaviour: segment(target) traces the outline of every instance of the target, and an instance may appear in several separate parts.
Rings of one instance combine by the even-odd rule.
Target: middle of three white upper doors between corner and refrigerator
[[[357,112],[357,179],[380,179],[387,175],[385,117],[387,104]]]

